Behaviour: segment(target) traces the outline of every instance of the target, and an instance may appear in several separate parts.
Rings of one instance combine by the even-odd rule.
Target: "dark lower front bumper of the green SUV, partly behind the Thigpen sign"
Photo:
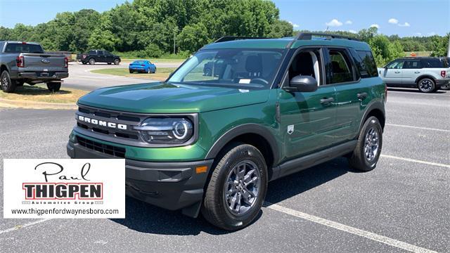
[[[72,158],[117,158],[72,141],[67,145],[67,153]],[[196,217],[212,162],[143,162],[126,159],[126,193],[151,205],[170,210],[182,209],[183,214]],[[195,168],[203,166],[207,166],[207,171],[197,174]]]

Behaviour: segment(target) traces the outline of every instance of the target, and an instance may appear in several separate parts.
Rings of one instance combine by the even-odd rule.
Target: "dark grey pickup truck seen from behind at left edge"
[[[1,90],[14,92],[24,83],[45,82],[50,91],[59,91],[61,79],[68,77],[68,58],[45,53],[41,45],[22,41],[0,41]]]

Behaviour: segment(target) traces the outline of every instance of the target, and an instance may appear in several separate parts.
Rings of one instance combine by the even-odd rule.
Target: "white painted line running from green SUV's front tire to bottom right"
[[[290,214],[290,215],[296,216],[296,217],[301,218],[301,219],[306,219],[307,221],[312,221],[312,222],[315,222],[315,223],[319,223],[321,225],[328,226],[330,228],[335,228],[335,229],[338,229],[340,231],[345,231],[347,233],[352,233],[354,235],[359,235],[361,237],[368,238],[370,240],[375,240],[377,242],[382,242],[382,243],[384,243],[386,245],[390,245],[390,246],[393,246],[393,247],[398,247],[400,249],[405,249],[405,250],[408,250],[410,252],[427,252],[427,253],[435,252],[435,251],[432,251],[430,249],[424,249],[422,247],[418,247],[418,246],[415,246],[415,245],[410,245],[409,243],[406,243],[406,242],[401,242],[399,240],[395,240],[395,239],[392,239],[392,238],[387,238],[387,237],[385,237],[383,235],[378,235],[378,234],[371,233],[371,232],[368,232],[368,231],[363,231],[363,230],[361,230],[359,228],[354,228],[354,227],[351,227],[351,226],[347,226],[347,225],[344,225],[344,224],[341,224],[341,223],[338,223],[338,222],[335,222],[335,221],[329,221],[327,219],[323,219],[323,218],[318,217],[318,216],[314,216],[314,215],[311,215],[311,214],[305,214],[304,212],[299,212],[299,211],[296,211],[294,209],[281,207],[280,205],[272,204],[272,203],[269,203],[269,202],[264,202],[264,207],[267,207],[267,208],[270,208],[270,209],[274,209],[274,210],[276,210],[278,212],[283,212],[285,214]]]

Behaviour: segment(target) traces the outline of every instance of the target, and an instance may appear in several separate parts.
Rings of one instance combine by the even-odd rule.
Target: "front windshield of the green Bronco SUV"
[[[267,89],[284,53],[283,49],[203,50],[189,58],[167,82]]]

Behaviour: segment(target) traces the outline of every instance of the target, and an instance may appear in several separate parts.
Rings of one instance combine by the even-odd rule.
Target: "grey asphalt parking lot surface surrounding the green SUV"
[[[339,158],[271,182],[241,231],[127,198],[126,219],[1,219],[0,252],[450,252],[450,92],[390,89],[386,110],[375,170]],[[67,158],[74,113],[0,108],[0,158]]]

